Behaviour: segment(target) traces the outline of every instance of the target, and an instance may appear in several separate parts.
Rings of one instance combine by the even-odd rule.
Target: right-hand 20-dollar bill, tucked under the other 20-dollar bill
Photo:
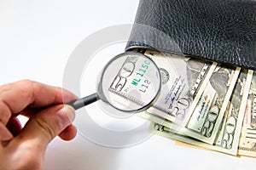
[[[151,128],[157,130],[158,134],[168,138],[195,144],[210,150],[236,155],[241,134],[241,124],[246,109],[247,96],[252,81],[252,72],[253,71],[241,71],[214,144],[207,144],[200,140],[193,139],[186,136],[184,133],[175,132],[171,128],[164,127],[159,123],[152,123]]]

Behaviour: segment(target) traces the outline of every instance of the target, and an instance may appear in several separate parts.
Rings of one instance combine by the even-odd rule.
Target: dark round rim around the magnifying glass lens
[[[110,102],[108,102],[108,99],[106,98],[105,94],[103,93],[103,89],[102,89],[102,79],[103,79],[103,75],[105,73],[105,71],[108,69],[108,65],[110,65],[115,59],[118,59],[120,57],[124,57],[125,55],[138,55],[138,56],[141,56],[143,58],[146,58],[146,59],[150,59],[148,58],[146,55],[144,54],[141,54],[141,53],[137,53],[137,52],[133,52],[133,51],[127,51],[125,53],[122,53],[122,54],[118,54],[116,55],[115,57],[113,57],[113,59],[110,59],[107,63],[107,65],[105,65],[105,67],[103,68],[102,70],[102,75],[100,77],[100,82],[98,83],[98,87],[97,87],[97,95],[100,99],[102,99],[102,101],[104,101],[105,103],[107,103],[108,105],[111,105],[113,108],[117,109],[118,111],[124,111],[124,112],[127,112],[127,113],[137,113],[137,112],[140,112],[140,111],[145,111],[147,110],[149,107],[151,107],[154,102],[158,99],[159,95],[160,95],[160,88],[161,88],[161,76],[160,76],[160,71],[158,69],[158,66],[154,63],[154,60],[150,59],[153,63],[153,65],[155,66],[156,70],[157,70],[157,73],[158,73],[158,76],[159,76],[159,88],[154,96],[154,98],[148,102],[148,105],[144,105],[142,106],[140,109],[137,109],[137,110],[130,110],[130,111],[125,111],[125,110],[122,110],[122,109],[119,109],[118,107],[112,105]]]

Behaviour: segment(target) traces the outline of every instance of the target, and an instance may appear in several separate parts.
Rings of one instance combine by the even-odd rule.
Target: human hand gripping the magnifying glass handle
[[[70,140],[77,133],[74,110],[63,105],[73,99],[66,90],[39,82],[0,86],[0,169],[42,169],[47,144],[56,135]],[[23,128],[18,115],[29,117]]]

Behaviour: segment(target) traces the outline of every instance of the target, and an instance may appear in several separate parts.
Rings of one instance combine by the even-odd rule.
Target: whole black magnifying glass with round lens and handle
[[[67,105],[78,110],[102,99],[119,111],[145,111],[158,98],[160,85],[160,71],[152,59],[137,52],[125,52],[108,61],[95,94]]]

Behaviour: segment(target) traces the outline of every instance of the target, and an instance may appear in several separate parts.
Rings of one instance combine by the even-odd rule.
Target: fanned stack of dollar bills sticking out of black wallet
[[[135,49],[153,59],[160,95],[138,113],[154,133],[234,156],[256,157],[256,71]]]

